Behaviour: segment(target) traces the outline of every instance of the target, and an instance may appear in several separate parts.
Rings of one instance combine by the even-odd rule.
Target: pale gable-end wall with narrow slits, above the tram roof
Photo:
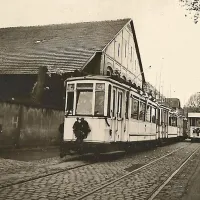
[[[131,80],[136,85],[142,87],[142,76],[136,53],[133,33],[128,24],[115,39],[105,49],[104,71],[106,74],[107,67],[113,70],[119,70],[121,77]]]

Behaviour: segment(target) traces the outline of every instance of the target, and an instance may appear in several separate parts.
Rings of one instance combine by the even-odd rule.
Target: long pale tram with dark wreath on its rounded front
[[[182,137],[181,117],[140,88],[107,76],[68,78],[61,157],[125,151]]]

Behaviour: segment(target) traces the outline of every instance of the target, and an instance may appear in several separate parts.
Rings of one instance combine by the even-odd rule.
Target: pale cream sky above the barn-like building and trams
[[[200,22],[185,14],[179,0],[0,0],[0,27],[132,18],[146,80],[182,105],[200,92]]]

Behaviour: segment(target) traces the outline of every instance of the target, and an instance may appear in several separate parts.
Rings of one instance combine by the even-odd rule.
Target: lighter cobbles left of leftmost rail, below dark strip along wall
[[[75,156],[67,156],[64,159],[53,157],[32,162],[0,159],[0,188],[87,164],[84,161],[65,162],[75,158]]]

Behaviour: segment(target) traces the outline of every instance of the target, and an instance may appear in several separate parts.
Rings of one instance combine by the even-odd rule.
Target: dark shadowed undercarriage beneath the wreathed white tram
[[[109,142],[109,143],[94,143],[84,141],[68,141],[62,142],[60,146],[60,157],[67,154],[105,154],[105,153],[119,153],[119,152],[136,152],[146,149],[164,146],[170,143],[183,140],[182,137],[176,138],[162,138],[148,141],[134,141],[134,142]]]

